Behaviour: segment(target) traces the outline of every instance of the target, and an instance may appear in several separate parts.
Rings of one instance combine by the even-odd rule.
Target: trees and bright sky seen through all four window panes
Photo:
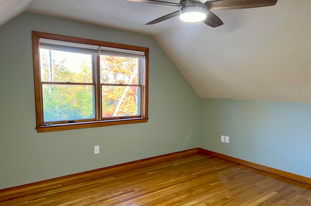
[[[95,118],[92,85],[53,85],[48,82],[92,82],[92,55],[40,49],[43,84],[44,121]],[[76,67],[70,65],[72,58]],[[69,65],[69,67],[67,66]],[[139,86],[105,85],[138,84],[138,59],[100,57],[103,117],[140,115]]]

